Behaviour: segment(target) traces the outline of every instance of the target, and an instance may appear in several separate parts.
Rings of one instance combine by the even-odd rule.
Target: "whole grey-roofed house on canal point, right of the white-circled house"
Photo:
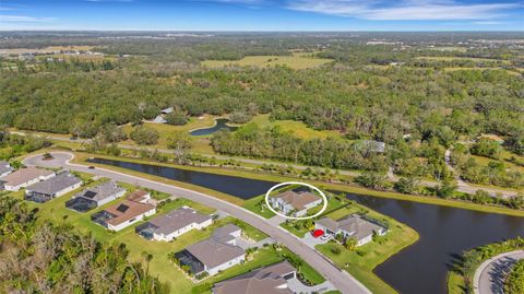
[[[355,238],[357,246],[371,242],[376,234],[382,236],[388,232],[388,228],[380,225],[377,221],[358,214],[347,215],[338,221],[323,217],[317,221],[314,226],[315,230],[322,230],[332,237],[342,234],[344,238]]]

